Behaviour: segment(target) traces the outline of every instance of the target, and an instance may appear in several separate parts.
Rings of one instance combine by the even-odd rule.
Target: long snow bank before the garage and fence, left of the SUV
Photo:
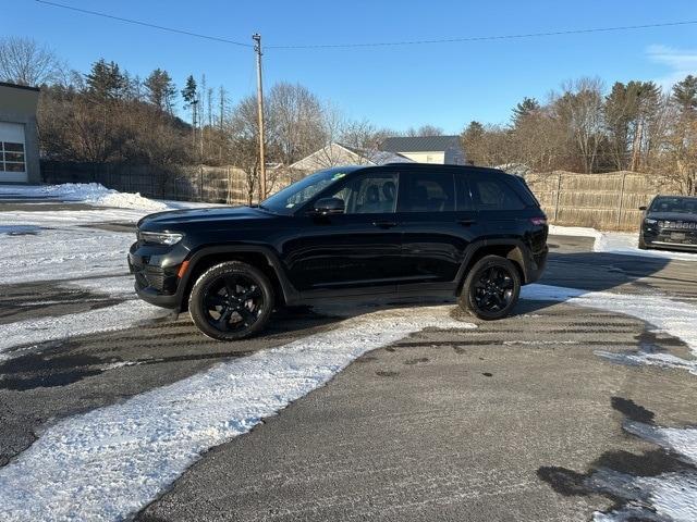
[[[82,201],[101,207],[149,210],[154,212],[169,209],[166,203],[144,198],[138,192],[120,192],[106,188],[99,183],[0,187],[0,197],[3,195],[22,196],[25,198],[51,198],[61,201]]]

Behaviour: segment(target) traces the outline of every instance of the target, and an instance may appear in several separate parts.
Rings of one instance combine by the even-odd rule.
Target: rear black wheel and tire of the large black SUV
[[[493,321],[511,313],[521,295],[521,275],[512,261],[485,256],[477,261],[460,293],[460,307],[473,315]]]

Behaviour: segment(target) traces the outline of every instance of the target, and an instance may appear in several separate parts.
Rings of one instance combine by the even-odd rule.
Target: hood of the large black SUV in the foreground
[[[274,214],[253,207],[210,207],[205,209],[171,210],[143,217],[138,228],[144,231],[169,231],[201,223],[222,224],[241,220],[272,219]]]

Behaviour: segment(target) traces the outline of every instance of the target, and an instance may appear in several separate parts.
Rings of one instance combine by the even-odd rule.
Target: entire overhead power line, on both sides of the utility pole
[[[87,9],[75,8],[73,5],[65,5],[63,3],[51,2],[48,0],[36,0],[38,3],[51,5],[54,8],[66,9],[70,11],[76,11],[78,13],[90,14],[93,16],[101,16],[103,18],[115,20],[118,22],[124,22],[127,24],[140,25],[144,27],[150,27],[159,30],[167,30],[169,33],[175,33],[180,35],[192,36],[195,38],[204,38],[207,40],[219,41],[222,44],[230,44],[239,47],[253,48],[250,44],[244,44],[242,41],[235,41],[219,36],[204,35],[201,33],[193,33],[191,30],[178,29],[173,27],[167,27],[163,25],[150,24],[139,20],[124,18],[121,16],[114,16],[112,14],[102,13],[99,11],[90,11]],[[641,24],[641,25],[619,25],[614,27],[591,27],[585,29],[562,29],[562,30],[549,30],[543,33],[522,33],[517,35],[489,35],[489,36],[465,36],[454,38],[437,38],[425,40],[403,40],[403,41],[374,41],[374,42],[356,42],[356,44],[307,44],[307,45],[285,45],[285,46],[265,46],[266,49],[285,49],[285,50],[302,50],[302,49],[351,49],[351,48],[368,48],[368,47],[396,47],[396,46],[420,46],[420,45],[433,45],[433,44],[457,44],[467,41],[491,41],[491,40],[513,40],[523,38],[541,38],[550,36],[564,36],[564,35],[584,35],[590,33],[614,33],[622,30],[639,30],[639,29],[652,29],[659,27],[675,27],[681,25],[695,25],[697,20],[687,20],[678,22],[663,22],[655,24]]]

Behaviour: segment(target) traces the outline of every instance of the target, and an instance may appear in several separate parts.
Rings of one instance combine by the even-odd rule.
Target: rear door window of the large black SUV
[[[452,212],[455,208],[452,173],[404,173],[400,186],[400,212]]]

